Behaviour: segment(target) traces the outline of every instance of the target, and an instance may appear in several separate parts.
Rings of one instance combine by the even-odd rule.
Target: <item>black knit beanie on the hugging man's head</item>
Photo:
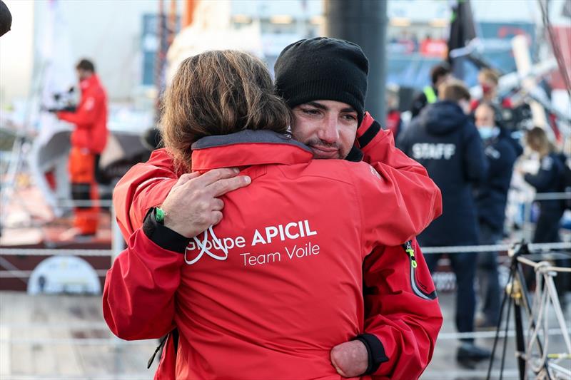
[[[369,61],[355,43],[316,37],[283,49],[274,65],[276,91],[290,108],[309,101],[340,101],[365,113]]]

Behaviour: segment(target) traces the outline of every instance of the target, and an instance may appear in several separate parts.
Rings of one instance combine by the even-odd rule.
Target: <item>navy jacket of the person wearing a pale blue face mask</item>
[[[507,190],[510,189],[513,164],[522,147],[507,132],[484,141],[484,152],[490,170],[487,179],[475,187],[478,220],[497,232],[503,231]]]

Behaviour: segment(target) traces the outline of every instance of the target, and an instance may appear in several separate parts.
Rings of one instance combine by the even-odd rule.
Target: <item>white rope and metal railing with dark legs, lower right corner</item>
[[[502,329],[505,332],[504,337],[510,329],[512,309],[515,324],[515,358],[520,379],[531,377],[571,379],[570,327],[567,326],[568,321],[565,320],[560,304],[560,294],[557,294],[554,282],[557,273],[571,273],[571,267],[557,267],[552,262],[541,259],[540,261],[530,260],[530,252],[533,251],[525,243],[514,245],[508,252],[511,258],[510,273],[500,307],[500,321],[504,321],[505,309],[507,309],[507,315],[504,326],[498,323],[495,332],[492,359],[488,365],[486,379],[491,379],[495,352],[500,346]],[[531,297],[528,291],[527,276],[524,274],[523,267],[529,267],[535,272],[534,297]],[[555,314],[555,324],[561,330],[559,337],[562,339],[562,346],[555,347],[555,349],[550,340],[552,330],[550,324],[553,324],[550,314]],[[502,346],[500,374],[505,368],[507,339],[504,339]]]

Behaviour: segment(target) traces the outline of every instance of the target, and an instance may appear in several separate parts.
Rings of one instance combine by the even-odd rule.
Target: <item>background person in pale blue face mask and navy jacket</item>
[[[479,183],[474,192],[480,244],[495,245],[502,239],[507,190],[512,180],[513,165],[522,148],[516,147],[515,140],[497,125],[497,114],[491,103],[477,106],[475,125],[484,142],[485,158],[490,167],[487,179]],[[500,318],[497,252],[480,252],[477,277],[483,318],[477,318],[475,324],[478,327],[496,327]]]

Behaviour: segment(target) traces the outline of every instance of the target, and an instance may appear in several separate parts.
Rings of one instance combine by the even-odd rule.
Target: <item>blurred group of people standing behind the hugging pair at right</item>
[[[532,126],[525,133],[510,128],[514,106],[510,98],[498,95],[499,76],[492,69],[484,68],[478,75],[480,98],[472,98],[465,83],[451,76],[447,63],[433,67],[430,75],[432,86],[423,88],[412,102],[410,123],[403,122],[395,94],[388,96],[386,120],[398,148],[421,163],[442,190],[443,215],[418,241],[424,247],[499,244],[507,235],[505,215],[512,175],[521,176],[536,194],[565,192],[570,173],[567,157],[551,142],[549,125],[545,129]],[[535,161],[537,170],[525,171],[517,164],[524,152],[526,160]],[[537,202],[532,242],[561,241],[560,221],[568,203],[564,199]],[[426,256],[430,272],[435,271],[439,257]],[[458,331],[496,327],[502,292],[498,252],[458,252],[449,258],[458,291]],[[556,261],[570,265],[568,260]],[[570,290],[569,278],[558,276],[557,288],[560,294]],[[476,302],[478,296],[480,302]],[[476,313],[477,304],[480,313]],[[460,361],[472,359],[464,364],[473,366],[473,359],[485,359],[490,353],[475,346],[473,339],[463,339],[458,355]]]

